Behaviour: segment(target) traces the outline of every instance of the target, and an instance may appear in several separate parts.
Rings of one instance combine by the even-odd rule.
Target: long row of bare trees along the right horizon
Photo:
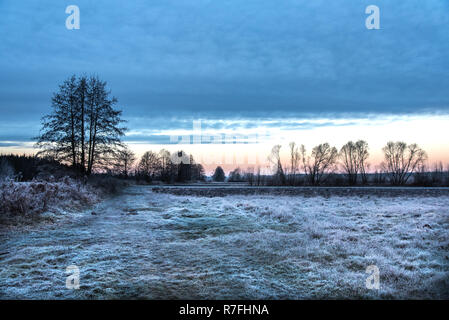
[[[281,161],[281,147],[275,145],[268,156],[271,176],[261,176],[260,168],[257,173],[251,169],[241,176],[256,185],[406,185],[411,180],[415,185],[449,185],[449,167],[446,172],[442,163],[434,169],[428,168],[426,152],[415,143],[388,142],[382,148],[384,161],[371,173],[368,173],[369,147],[364,140],[349,141],[340,150],[322,143],[310,153],[304,145],[291,142],[286,165]]]

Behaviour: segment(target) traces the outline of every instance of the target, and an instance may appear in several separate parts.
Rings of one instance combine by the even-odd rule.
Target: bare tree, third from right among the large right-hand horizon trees
[[[307,156],[304,145],[301,145],[301,157],[307,180],[311,185],[319,185],[335,171],[338,151],[328,143],[322,143],[312,149],[311,156]]]

